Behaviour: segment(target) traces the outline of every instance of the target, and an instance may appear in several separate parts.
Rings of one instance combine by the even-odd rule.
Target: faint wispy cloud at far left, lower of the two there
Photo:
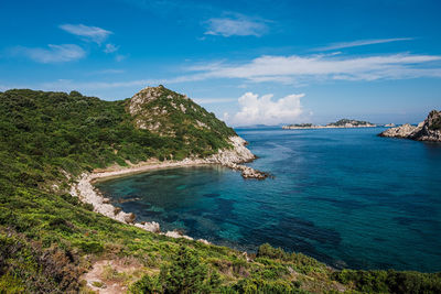
[[[86,56],[86,52],[75,44],[49,44],[47,48],[18,46],[12,50],[12,54],[23,55],[39,63],[64,63]]]

